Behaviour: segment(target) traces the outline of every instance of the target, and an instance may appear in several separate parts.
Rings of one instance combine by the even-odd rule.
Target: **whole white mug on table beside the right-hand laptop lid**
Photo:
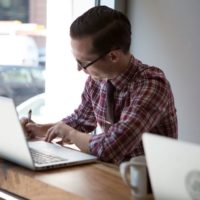
[[[123,181],[131,188],[134,197],[145,198],[152,195],[146,159],[144,156],[133,157],[120,164]]]

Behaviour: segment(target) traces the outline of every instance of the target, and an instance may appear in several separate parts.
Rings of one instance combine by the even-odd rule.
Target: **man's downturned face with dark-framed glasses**
[[[94,80],[108,79],[110,62],[109,52],[97,55],[91,53],[92,40],[90,37],[71,39],[72,53],[77,60],[78,70],[83,70]]]

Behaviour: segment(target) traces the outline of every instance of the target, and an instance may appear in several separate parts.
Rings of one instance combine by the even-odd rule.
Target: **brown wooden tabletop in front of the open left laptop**
[[[0,188],[37,200],[134,199],[119,169],[103,163],[33,172],[0,160]]]

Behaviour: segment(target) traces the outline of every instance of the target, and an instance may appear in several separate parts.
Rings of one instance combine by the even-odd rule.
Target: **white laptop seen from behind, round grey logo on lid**
[[[156,200],[200,200],[200,146],[144,133],[143,145]]]

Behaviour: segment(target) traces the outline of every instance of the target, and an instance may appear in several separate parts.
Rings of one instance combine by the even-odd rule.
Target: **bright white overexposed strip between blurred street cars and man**
[[[69,27],[94,0],[47,1],[45,122],[58,121],[78,107],[87,75],[77,70]]]

